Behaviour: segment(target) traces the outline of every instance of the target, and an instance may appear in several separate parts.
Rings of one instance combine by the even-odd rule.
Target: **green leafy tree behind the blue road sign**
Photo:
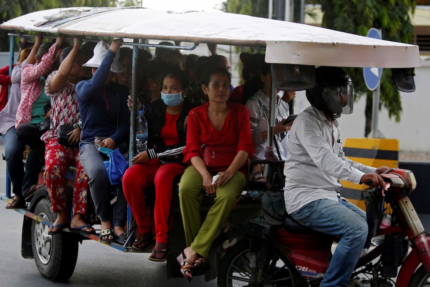
[[[327,28],[366,35],[371,27],[382,30],[384,40],[412,43],[414,27],[411,14],[415,11],[416,0],[320,0],[324,12],[322,25]],[[354,56],[354,55],[351,55]],[[348,68],[354,82],[356,100],[366,97],[365,136],[371,131],[373,92],[366,87],[363,69]],[[379,108],[385,107],[389,116],[400,121],[402,103],[400,92],[391,77],[391,69],[383,69]]]

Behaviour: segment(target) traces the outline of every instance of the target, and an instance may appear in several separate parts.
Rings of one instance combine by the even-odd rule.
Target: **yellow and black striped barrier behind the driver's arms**
[[[376,138],[347,138],[343,146],[347,158],[364,165],[399,167],[399,140]],[[363,190],[368,186],[341,181],[341,195],[365,210]]]

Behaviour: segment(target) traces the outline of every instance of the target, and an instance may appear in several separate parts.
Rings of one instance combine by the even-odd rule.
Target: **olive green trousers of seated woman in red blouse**
[[[216,187],[214,205],[200,226],[200,205],[204,196],[203,179],[193,166],[185,170],[179,184],[179,198],[187,246],[191,246],[203,257],[209,256],[215,236],[236,205],[245,184],[245,175],[236,172],[225,185]]]

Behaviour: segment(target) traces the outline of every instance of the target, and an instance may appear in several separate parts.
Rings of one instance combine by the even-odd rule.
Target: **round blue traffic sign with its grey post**
[[[382,39],[381,32],[375,28],[370,28],[367,36],[375,39]],[[373,110],[372,110],[372,131],[369,134],[370,138],[385,138],[382,132],[378,129],[379,124],[379,94],[380,80],[382,76],[382,68],[363,68],[364,80],[369,90],[373,92]]]

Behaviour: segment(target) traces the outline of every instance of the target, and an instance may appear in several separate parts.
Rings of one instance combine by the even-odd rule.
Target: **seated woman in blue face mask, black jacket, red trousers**
[[[172,226],[172,184],[186,166],[182,151],[186,144],[188,112],[194,106],[184,97],[188,79],[177,66],[169,67],[161,77],[161,99],[151,102],[145,113],[148,121],[148,150],[136,155],[124,174],[124,195],[136,219],[139,238],[133,243],[137,250],[152,251],[149,260],[166,261],[169,255],[168,234]],[[143,190],[155,186],[154,242],[153,222],[145,208]]]

